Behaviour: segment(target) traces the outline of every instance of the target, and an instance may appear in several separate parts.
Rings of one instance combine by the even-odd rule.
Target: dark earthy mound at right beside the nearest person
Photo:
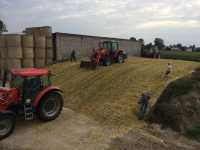
[[[200,123],[200,69],[164,90],[149,114],[149,121],[185,132]]]

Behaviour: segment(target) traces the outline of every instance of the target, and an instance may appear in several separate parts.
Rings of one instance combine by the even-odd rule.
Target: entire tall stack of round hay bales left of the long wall
[[[26,28],[24,33],[0,35],[1,75],[11,68],[41,68],[53,63],[52,28]]]

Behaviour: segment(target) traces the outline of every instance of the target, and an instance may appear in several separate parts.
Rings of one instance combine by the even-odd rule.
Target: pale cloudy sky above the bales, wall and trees
[[[200,46],[200,0],[0,0],[10,32],[49,25],[54,32]]]

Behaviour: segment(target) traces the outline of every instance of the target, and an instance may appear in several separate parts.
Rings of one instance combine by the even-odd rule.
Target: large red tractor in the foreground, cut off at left
[[[62,91],[51,85],[47,69],[12,69],[10,87],[0,87],[0,140],[15,128],[16,116],[56,119],[63,107]]]

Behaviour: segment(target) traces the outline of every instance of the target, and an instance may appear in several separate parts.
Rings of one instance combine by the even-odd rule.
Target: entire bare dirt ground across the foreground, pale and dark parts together
[[[190,141],[159,126],[132,129],[113,136],[112,129],[64,109],[55,121],[18,121],[15,132],[0,142],[0,150],[199,150]]]

